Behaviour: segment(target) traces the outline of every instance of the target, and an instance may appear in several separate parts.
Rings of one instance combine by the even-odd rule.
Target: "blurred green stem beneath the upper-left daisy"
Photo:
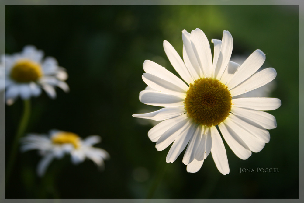
[[[23,100],[24,108],[23,108],[23,114],[19,123],[19,127],[16,133],[16,136],[14,138],[14,141],[12,143],[12,149],[9,157],[8,164],[6,166],[5,170],[5,184],[9,182],[9,177],[12,173],[12,169],[14,167],[15,161],[16,161],[16,156],[18,152],[18,145],[19,145],[19,140],[21,136],[24,134],[27,124],[29,122],[29,116],[31,113],[31,103],[30,100]]]

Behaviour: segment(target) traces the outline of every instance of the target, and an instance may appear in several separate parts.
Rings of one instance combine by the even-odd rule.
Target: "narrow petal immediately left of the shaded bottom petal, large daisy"
[[[190,138],[188,147],[185,151],[184,157],[183,157],[183,163],[189,164],[193,161],[195,158],[195,152],[197,150],[197,147],[199,146],[199,142],[201,140],[201,134],[202,134],[202,126],[198,125],[196,127],[195,124],[192,124],[192,131],[194,131],[193,136]],[[196,129],[195,129],[196,128]]]

